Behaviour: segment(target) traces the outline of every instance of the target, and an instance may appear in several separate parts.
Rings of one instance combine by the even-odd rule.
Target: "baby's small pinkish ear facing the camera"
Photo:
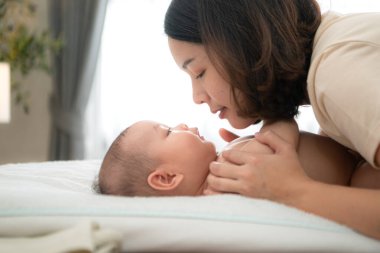
[[[183,174],[167,172],[165,169],[159,168],[149,174],[147,181],[153,189],[169,191],[176,189],[183,178]]]

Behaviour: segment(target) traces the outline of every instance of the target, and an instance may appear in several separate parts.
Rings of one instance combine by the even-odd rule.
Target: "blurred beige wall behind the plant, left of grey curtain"
[[[48,0],[34,1],[37,30],[48,27]],[[15,77],[30,91],[30,113],[12,103],[11,122],[0,123],[0,164],[46,161],[49,155],[51,117],[49,109],[52,80],[42,71],[25,79]]]

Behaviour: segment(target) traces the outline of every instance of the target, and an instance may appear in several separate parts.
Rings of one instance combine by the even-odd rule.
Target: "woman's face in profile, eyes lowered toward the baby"
[[[231,85],[211,64],[201,44],[169,38],[169,48],[177,65],[191,78],[193,100],[196,104],[207,103],[211,113],[219,113],[220,119],[227,119],[231,126],[237,129],[255,123],[257,119],[242,118],[238,115]]]

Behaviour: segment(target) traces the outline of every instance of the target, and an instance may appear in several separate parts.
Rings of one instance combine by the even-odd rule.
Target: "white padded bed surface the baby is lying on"
[[[99,166],[1,165],[0,252],[380,252],[380,241],[266,200],[99,195]]]

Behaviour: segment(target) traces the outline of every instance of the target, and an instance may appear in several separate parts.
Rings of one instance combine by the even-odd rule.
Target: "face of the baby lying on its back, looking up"
[[[183,187],[197,195],[205,184],[209,164],[217,157],[215,145],[185,124],[168,127],[153,121],[140,121],[128,130],[128,139],[139,143],[148,156],[185,176]]]

